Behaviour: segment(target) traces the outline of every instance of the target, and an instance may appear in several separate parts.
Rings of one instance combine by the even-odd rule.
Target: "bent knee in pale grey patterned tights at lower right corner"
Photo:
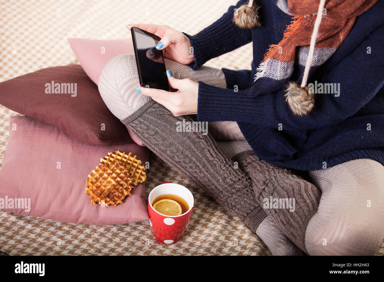
[[[374,255],[384,237],[384,167],[371,159],[310,172],[321,191],[305,246],[316,255]]]

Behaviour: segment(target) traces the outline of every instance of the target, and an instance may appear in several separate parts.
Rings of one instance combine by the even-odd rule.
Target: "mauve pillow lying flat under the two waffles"
[[[148,219],[145,182],[134,187],[132,195],[117,206],[93,205],[85,193],[88,174],[99,165],[101,157],[115,150],[132,152],[143,164],[148,161],[149,150],[135,143],[93,145],[30,117],[11,117],[9,142],[0,170],[0,205],[6,197],[30,198],[30,211],[25,211],[25,206],[1,208],[82,224]]]

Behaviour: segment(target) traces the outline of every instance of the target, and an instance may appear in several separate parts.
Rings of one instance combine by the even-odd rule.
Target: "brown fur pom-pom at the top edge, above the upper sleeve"
[[[251,3],[249,3],[251,2]],[[251,6],[250,6],[250,5]],[[260,17],[257,10],[260,8],[256,1],[250,0],[244,5],[241,5],[233,14],[233,23],[240,28],[255,28],[261,27]]]

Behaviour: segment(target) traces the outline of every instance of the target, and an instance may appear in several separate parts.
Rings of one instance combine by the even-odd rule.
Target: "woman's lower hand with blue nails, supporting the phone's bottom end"
[[[199,83],[190,79],[175,79],[172,73],[167,70],[169,86],[179,89],[177,92],[137,87],[135,90],[144,95],[151,96],[159,104],[169,109],[173,115],[197,114],[197,93]]]

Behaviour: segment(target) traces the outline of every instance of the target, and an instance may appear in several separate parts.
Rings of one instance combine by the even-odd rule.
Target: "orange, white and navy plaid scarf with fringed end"
[[[252,96],[271,93],[286,88],[293,73],[295,62],[300,68],[300,79],[309,54],[311,35],[314,30],[320,0],[273,0],[283,12],[293,15],[293,21],[286,28],[283,39],[277,45],[270,45],[254,77],[256,92]],[[321,22],[314,45],[313,58],[308,76],[323,64],[351,31],[356,17],[366,12],[378,0],[326,0],[321,13]],[[248,2],[245,4],[247,5]],[[245,6],[243,5],[243,6]],[[258,6],[250,3],[250,6]],[[298,48],[298,53],[296,53]],[[297,55],[296,55],[297,54]],[[298,58],[295,58],[295,57]],[[305,79],[306,82],[306,79]],[[307,91],[308,89],[305,89]],[[288,89],[287,89],[288,91]],[[299,94],[295,92],[299,97]],[[287,102],[288,101],[287,97]],[[310,97],[313,100],[313,96]],[[293,101],[298,102],[296,101]],[[299,101],[301,102],[301,101]],[[292,105],[290,104],[291,108]],[[313,107],[313,106],[312,106]],[[296,113],[308,114],[312,109]]]

